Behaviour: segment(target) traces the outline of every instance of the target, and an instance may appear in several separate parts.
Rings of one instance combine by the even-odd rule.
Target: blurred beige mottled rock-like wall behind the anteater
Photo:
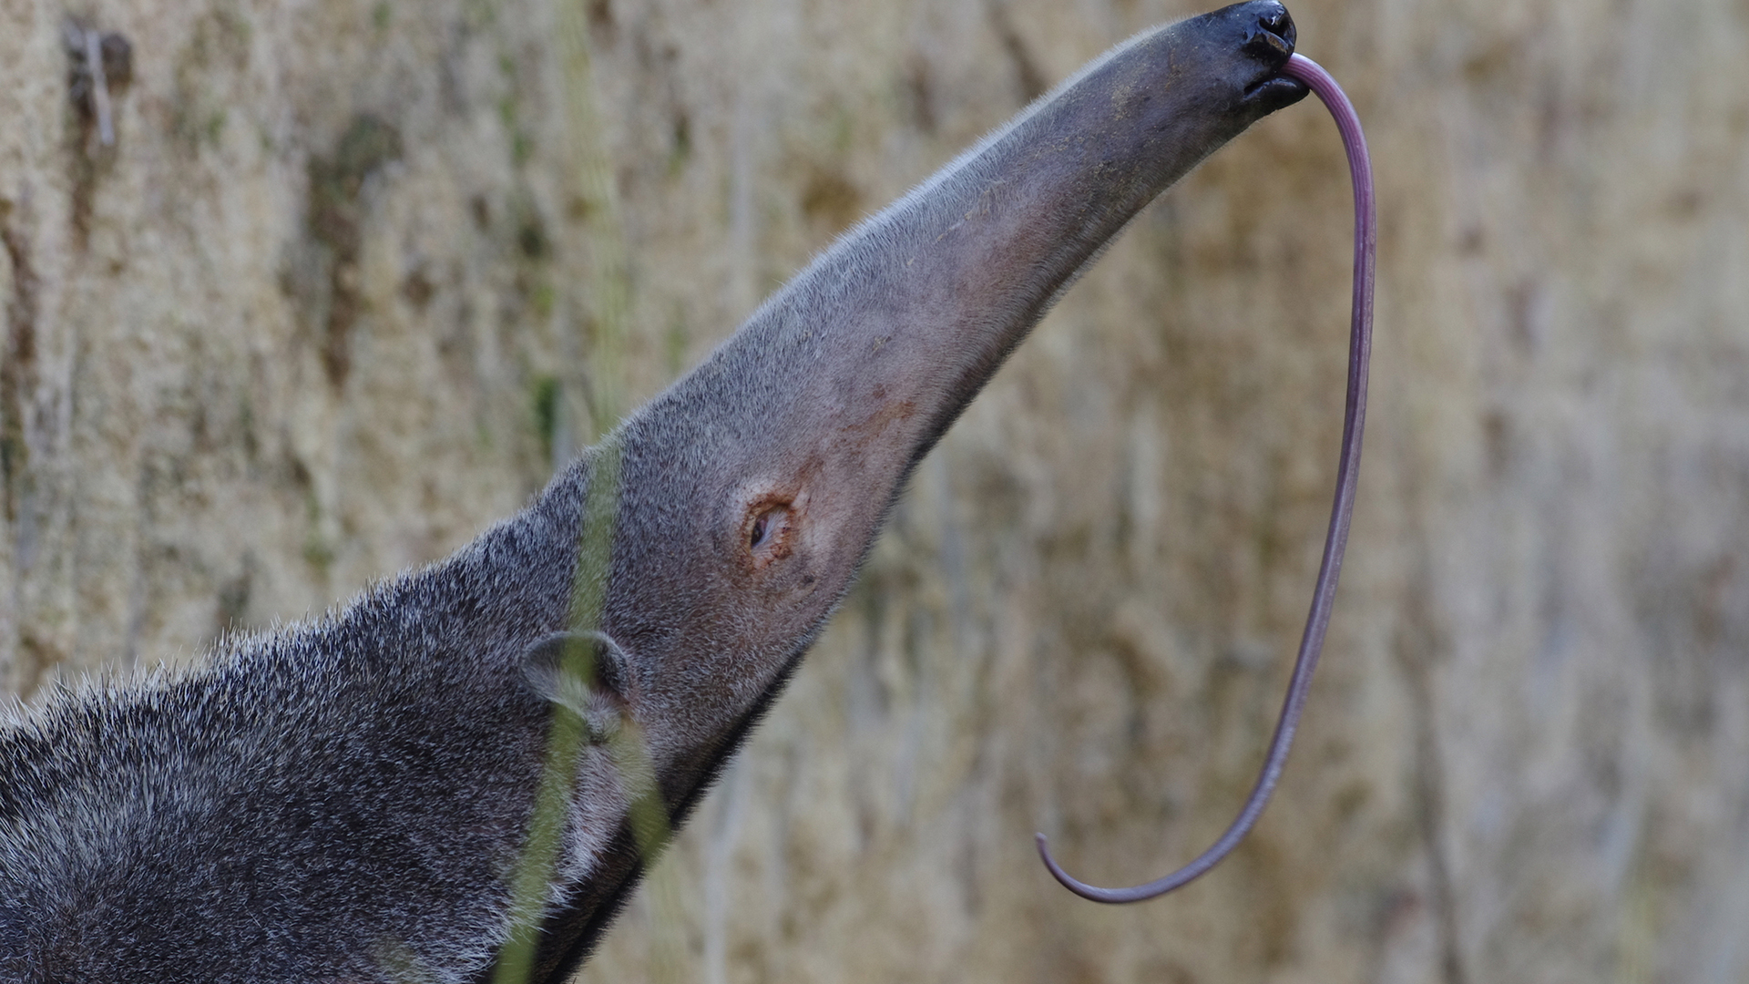
[[[198,658],[516,510],[1181,0],[0,0],[0,676]],[[1322,110],[1156,203],[918,473],[586,980],[1749,980],[1749,5],[1296,0],[1382,182],[1327,510]],[[114,147],[68,16],[131,42]]]

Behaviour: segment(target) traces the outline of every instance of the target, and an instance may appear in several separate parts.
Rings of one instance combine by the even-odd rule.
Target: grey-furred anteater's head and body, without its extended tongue
[[[581,720],[533,902],[530,979],[561,979],[637,884],[638,788],[658,839],[684,819],[1007,352],[1142,205],[1305,95],[1275,77],[1291,42],[1273,2],[1130,40],[455,557],[0,727],[0,980],[490,979],[549,734]]]

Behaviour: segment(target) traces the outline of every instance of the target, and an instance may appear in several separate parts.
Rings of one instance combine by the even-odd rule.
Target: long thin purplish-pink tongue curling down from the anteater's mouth
[[[1195,881],[1221,863],[1251,826],[1258,823],[1263,807],[1275,791],[1275,783],[1282,777],[1287,763],[1287,749],[1294,742],[1294,730],[1300,727],[1300,713],[1305,709],[1307,692],[1312,688],[1312,671],[1317,669],[1317,657],[1324,650],[1324,630],[1329,627],[1329,609],[1336,601],[1336,578],[1341,574],[1341,552],[1348,545],[1348,520],[1354,515],[1354,485],[1361,467],[1361,431],[1366,425],[1366,362],[1373,352],[1373,254],[1376,252],[1376,215],[1373,207],[1373,161],[1366,152],[1366,137],[1361,133],[1361,117],[1354,112],[1354,103],[1343,95],[1341,86],[1329,77],[1317,61],[1294,54],[1282,67],[1282,75],[1305,82],[1324,107],[1336,117],[1336,130],[1341,133],[1343,147],[1348,151],[1348,172],[1354,175],[1354,317],[1348,329],[1348,404],[1341,422],[1341,459],[1336,464],[1336,503],[1331,506],[1329,534],[1324,538],[1324,562],[1317,573],[1317,587],[1312,590],[1312,611],[1307,615],[1307,630],[1300,639],[1300,657],[1294,660],[1294,676],[1287,685],[1287,700],[1282,702],[1282,716],[1275,723],[1275,737],[1270,739],[1270,753],[1263,760],[1263,772],[1245,809],[1238,819],[1226,828],[1226,833],[1195,861],[1168,874],[1163,879],[1139,884],[1135,888],[1097,888],[1074,879],[1065,872],[1051,851],[1044,835],[1037,835],[1039,856],[1044,867],[1063,882],[1063,888],[1093,902],[1142,902],[1165,895],[1175,888]]]

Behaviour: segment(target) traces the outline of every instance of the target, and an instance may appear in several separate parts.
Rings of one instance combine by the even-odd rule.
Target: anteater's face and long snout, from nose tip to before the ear
[[[609,618],[630,651],[684,664],[654,676],[658,702],[668,690],[677,714],[682,700],[696,713],[703,690],[736,714],[763,699],[916,460],[1090,259],[1307,95],[1280,75],[1293,46],[1275,0],[1125,42],[852,229],[626,422],[616,439],[635,496]],[[644,574],[652,545],[663,562]]]

